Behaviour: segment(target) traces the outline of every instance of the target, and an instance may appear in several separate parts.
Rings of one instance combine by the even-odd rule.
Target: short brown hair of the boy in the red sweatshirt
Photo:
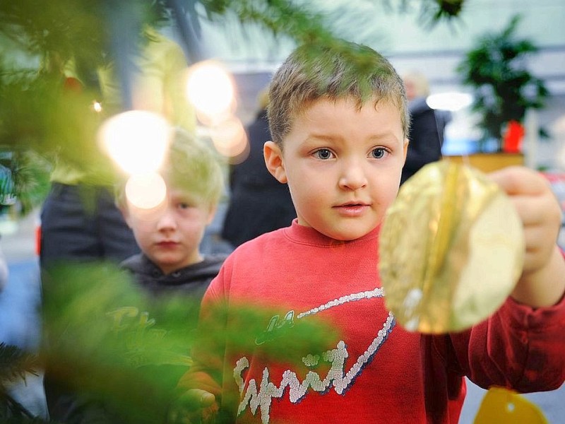
[[[384,100],[398,107],[404,134],[410,115],[402,78],[391,63],[370,47],[339,41],[330,47],[298,47],[270,83],[268,119],[273,141],[282,146],[294,119],[320,98],[352,97],[359,109],[365,102]]]

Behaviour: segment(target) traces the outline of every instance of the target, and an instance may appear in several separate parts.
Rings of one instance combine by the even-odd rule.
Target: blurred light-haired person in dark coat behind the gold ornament
[[[403,77],[410,111],[408,154],[402,170],[400,184],[412,177],[424,165],[441,159],[444,128],[449,120],[427,105],[429,95],[427,79],[420,73],[408,73]],[[447,118],[447,119],[446,119]]]

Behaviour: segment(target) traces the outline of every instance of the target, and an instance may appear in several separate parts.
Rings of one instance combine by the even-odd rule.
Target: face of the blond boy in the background
[[[139,247],[163,273],[202,261],[199,245],[215,213],[207,202],[173,188],[162,206],[144,211],[129,204],[123,213]]]

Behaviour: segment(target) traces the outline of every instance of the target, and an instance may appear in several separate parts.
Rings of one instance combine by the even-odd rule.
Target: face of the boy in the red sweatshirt
[[[298,223],[336,240],[376,228],[396,198],[406,158],[400,112],[388,102],[322,99],[300,114],[283,141],[265,145],[267,167],[287,182]]]

